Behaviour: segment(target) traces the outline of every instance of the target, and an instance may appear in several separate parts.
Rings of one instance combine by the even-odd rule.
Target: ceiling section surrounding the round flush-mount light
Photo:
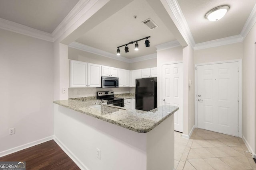
[[[240,34],[255,3],[256,0],[178,0],[196,43]],[[221,20],[211,22],[204,18],[208,11],[221,5],[230,6]]]

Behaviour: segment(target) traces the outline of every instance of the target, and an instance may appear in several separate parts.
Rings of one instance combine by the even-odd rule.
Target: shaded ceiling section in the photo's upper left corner
[[[0,0],[0,18],[52,33],[78,0]]]

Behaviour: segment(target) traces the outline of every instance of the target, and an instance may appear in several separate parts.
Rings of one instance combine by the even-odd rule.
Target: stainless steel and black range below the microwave
[[[124,107],[124,98],[114,98],[114,91],[97,92],[97,99],[106,100],[109,105]]]

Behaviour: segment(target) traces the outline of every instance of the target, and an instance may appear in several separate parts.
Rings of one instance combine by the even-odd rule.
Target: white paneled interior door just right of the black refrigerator
[[[183,132],[183,69],[182,63],[162,66],[162,105],[180,107],[174,113],[174,130]]]

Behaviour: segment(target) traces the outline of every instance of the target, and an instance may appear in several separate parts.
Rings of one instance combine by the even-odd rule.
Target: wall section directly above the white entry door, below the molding
[[[243,58],[243,43],[222,45],[194,51],[194,64]]]

